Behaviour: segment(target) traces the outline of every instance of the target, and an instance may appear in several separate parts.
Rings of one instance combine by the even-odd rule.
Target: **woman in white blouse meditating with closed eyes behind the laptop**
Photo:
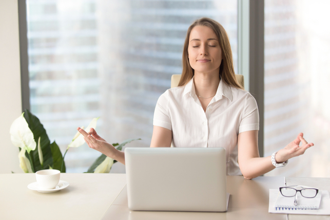
[[[313,143],[300,133],[272,156],[258,151],[259,114],[255,99],[236,80],[229,39],[216,21],[203,18],[187,31],[179,87],[159,98],[153,119],[150,147],[223,147],[227,175],[251,179],[301,155]],[[125,164],[116,150],[95,130],[78,128],[90,148]],[[299,146],[300,142],[302,145]]]

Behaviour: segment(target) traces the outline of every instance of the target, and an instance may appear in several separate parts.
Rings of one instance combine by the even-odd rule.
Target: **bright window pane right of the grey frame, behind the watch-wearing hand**
[[[329,1],[265,0],[265,156],[300,132],[315,146],[267,175],[329,177]]]

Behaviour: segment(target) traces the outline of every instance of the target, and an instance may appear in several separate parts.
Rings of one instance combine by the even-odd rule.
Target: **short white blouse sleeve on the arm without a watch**
[[[153,125],[165,127],[165,129],[172,131],[172,123],[169,116],[169,97],[167,91],[162,94],[154,108]]]

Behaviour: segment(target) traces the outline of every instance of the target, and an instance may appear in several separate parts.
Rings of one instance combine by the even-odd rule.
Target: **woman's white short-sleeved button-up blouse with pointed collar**
[[[258,106],[250,93],[220,80],[204,112],[192,78],[159,97],[153,125],[171,130],[172,145],[177,148],[226,149],[227,175],[241,175],[237,138],[241,132],[259,130]]]

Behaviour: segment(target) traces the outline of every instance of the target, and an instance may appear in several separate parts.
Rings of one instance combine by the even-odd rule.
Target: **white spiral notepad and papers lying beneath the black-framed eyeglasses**
[[[294,205],[295,196],[284,197],[278,189],[269,189],[269,207],[270,213],[286,214],[330,214],[330,197],[326,190],[320,190],[314,198],[305,198],[301,195],[297,197],[298,205]]]

